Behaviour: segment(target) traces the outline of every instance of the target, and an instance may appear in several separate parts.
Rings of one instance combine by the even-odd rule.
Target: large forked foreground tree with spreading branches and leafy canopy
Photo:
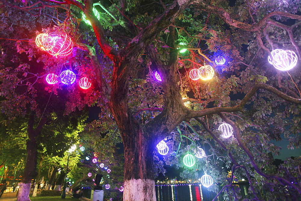
[[[62,13],[68,11],[65,22],[74,31],[72,34],[83,34],[75,40],[76,48],[82,50],[77,56],[89,69],[85,72],[93,72],[90,76],[100,91],[98,105],[105,110],[105,116],[113,115],[123,140],[124,200],[156,199],[154,149],[182,122],[190,122],[186,126],[199,134],[198,138],[213,139],[218,150],[212,150],[218,152],[219,158],[225,152],[226,159],[230,159],[225,163],[232,166],[232,172],[243,169],[251,184],[254,178],[248,165],[255,169],[256,179],[276,182],[292,190],[292,196],[300,195],[299,186],[263,169],[268,160],[265,152],[277,152],[268,141],[280,140],[281,132],[290,137],[291,148],[300,146],[299,64],[292,75],[286,75],[266,62],[266,57],[272,56],[270,50],[276,47],[294,50],[301,56],[297,28],[301,17],[296,14],[299,2],[237,1],[234,7],[224,1],[203,0],[160,0],[151,5],[143,0],[113,2],[116,5],[91,0],[4,4],[33,15],[39,15],[37,11],[47,13],[43,10],[46,7],[58,7]],[[101,11],[101,20],[95,17],[93,6]],[[95,35],[81,32],[88,30],[85,25],[79,29],[69,26],[72,21],[79,22],[76,16],[81,12]],[[93,47],[96,40],[103,54],[98,46]],[[182,40],[187,45],[178,45]],[[184,48],[189,52],[179,54]],[[218,54],[227,57],[227,63],[217,65],[214,60]],[[216,69],[215,77],[207,82],[191,81],[190,69],[204,63]],[[155,71],[162,82],[154,81]],[[188,92],[194,97],[183,100]],[[184,105],[187,101],[192,103],[190,108]],[[233,127],[233,141],[224,142],[216,136],[213,129],[217,121]],[[244,161],[237,160],[240,158]],[[299,181],[299,176],[294,177]],[[233,187],[233,179],[222,190]],[[260,199],[255,189],[251,185],[254,197]]]

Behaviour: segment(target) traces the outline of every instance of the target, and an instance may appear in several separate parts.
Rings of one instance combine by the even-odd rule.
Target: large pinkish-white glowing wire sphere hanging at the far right
[[[275,49],[268,56],[268,62],[278,70],[291,70],[296,66],[298,57],[294,51]]]

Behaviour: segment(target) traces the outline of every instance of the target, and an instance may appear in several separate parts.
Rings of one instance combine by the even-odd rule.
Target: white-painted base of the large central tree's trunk
[[[131,179],[124,181],[124,201],[156,201],[155,181]]]

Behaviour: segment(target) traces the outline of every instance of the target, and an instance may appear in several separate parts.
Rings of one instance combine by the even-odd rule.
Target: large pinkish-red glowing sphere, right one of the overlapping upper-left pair
[[[47,52],[54,57],[67,57],[73,49],[72,39],[66,33],[53,32],[48,34],[45,46],[52,47]]]

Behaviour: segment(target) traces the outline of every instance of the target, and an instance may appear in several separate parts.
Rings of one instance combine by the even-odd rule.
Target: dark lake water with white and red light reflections
[[[242,184],[240,193],[243,197],[247,195],[249,185]],[[200,184],[191,185],[156,185],[156,197],[158,201],[208,201],[212,200],[216,193],[210,192]],[[222,195],[218,200],[223,200]]]

